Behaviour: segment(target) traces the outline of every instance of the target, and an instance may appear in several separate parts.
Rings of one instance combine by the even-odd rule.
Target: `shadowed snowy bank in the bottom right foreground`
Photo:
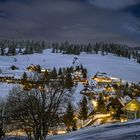
[[[140,140],[140,120],[84,128],[66,135],[50,136],[47,140]]]

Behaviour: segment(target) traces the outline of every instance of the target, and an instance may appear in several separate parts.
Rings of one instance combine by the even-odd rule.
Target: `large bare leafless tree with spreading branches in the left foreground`
[[[58,125],[69,96],[67,90],[56,85],[42,85],[31,91],[16,87],[6,106],[10,122],[24,130],[29,139],[32,133],[34,140],[44,140],[50,128]]]

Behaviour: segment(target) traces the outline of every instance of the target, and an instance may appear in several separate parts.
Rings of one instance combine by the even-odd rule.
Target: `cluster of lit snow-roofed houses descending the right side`
[[[92,82],[89,82],[92,81]],[[106,108],[108,108],[110,114],[115,113],[116,108],[120,113],[120,119],[122,122],[129,119],[140,118],[140,95],[130,97],[129,95],[123,95],[120,93],[118,96],[114,84],[123,84],[119,78],[112,78],[106,73],[97,73],[88,81],[88,85],[80,91],[81,94],[88,96],[96,102],[99,95],[102,94],[105,100]],[[113,107],[113,108],[112,108]]]

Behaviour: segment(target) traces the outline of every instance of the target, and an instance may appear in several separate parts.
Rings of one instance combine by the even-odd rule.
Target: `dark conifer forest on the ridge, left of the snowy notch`
[[[42,53],[44,49],[50,48],[46,41],[34,40],[0,40],[0,55],[34,54]]]

